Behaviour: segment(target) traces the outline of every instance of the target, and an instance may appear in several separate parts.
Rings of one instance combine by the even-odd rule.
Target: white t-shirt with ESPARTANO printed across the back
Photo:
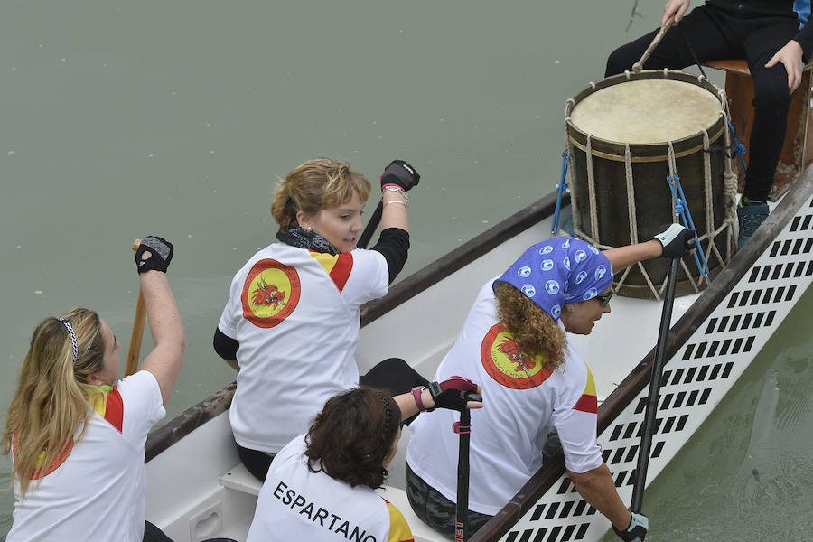
[[[412,541],[401,512],[368,486],[308,469],[304,436],[276,454],[257,497],[248,542]]]

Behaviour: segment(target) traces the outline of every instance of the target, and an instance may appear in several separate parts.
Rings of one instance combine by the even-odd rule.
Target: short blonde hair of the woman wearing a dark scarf
[[[353,192],[361,201],[367,201],[370,190],[367,178],[351,170],[347,162],[313,158],[297,165],[279,182],[271,215],[279,229],[286,231],[297,225],[296,213],[300,210],[315,215],[322,209],[334,209],[350,201]]]

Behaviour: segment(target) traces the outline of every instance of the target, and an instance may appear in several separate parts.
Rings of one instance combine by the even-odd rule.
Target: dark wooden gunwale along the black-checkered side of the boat
[[[706,322],[706,318],[714,312],[715,308],[723,303],[725,297],[734,289],[739,281],[752,268],[753,264],[771,246],[771,243],[781,233],[782,229],[797,214],[801,205],[813,193],[813,168],[807,171],[793,184],[771,211],[762,226],[756,230],[752,238],[739,249],[727,266],[715,277],[706,290],[704,290],[683,315],[669,329],[666,345],[666,364],[678,350],[691,338],[694,332]],[[612,424],[612,421],[629,406],[631,401],[638,397],[640,391],[649,386],[650,374],[655,360],[655,348],[630,371],[604,399],[599,406],[597,431],[601,435]],[[565,457],[562,452],[556,453],[547,465],[539,469],[528,482],[520,488],[517,494],[485,525],[470,538],[470,542],[486,542],[499,540],[510,528],[521,519],[529,509],[533,508],[545,493],[565,473]]]

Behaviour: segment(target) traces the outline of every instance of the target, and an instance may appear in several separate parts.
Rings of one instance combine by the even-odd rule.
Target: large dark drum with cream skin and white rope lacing
[[[736,249],[736,178],[724,91],[681,71],[647,70],[591,83],[565,106],[575,236],[596,247],[652,238],[674,220],[668,175],[677,174],[709,277],[685,258],[677,294],[708,284]],[[655,259],[615,276],[613,289],[659,297],[669,262]]]

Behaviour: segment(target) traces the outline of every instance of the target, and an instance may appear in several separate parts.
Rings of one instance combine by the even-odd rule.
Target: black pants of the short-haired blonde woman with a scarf
[[[369,369],[366,375],[361,375],[359,377],[359,384],[369,386],[370,388],[386,389],[389,393],[396,396],[406,393],[410,389],[416,388],[416,386],[428,387],[429,380],[419,375],[406,361],[400,358],[388,358],[378,363],[378,365],[372,369]],[[416,416],[406,418],[404,423],[411,423]],[[306,430],[307,427],[303,427],[303,431]],[[248,472],[251,472],[257,480],[266,481],[268,467],[271,466],[274,454],[250,450],[239,444],[237,444],[237,447],[240,461],[246,465]]]

